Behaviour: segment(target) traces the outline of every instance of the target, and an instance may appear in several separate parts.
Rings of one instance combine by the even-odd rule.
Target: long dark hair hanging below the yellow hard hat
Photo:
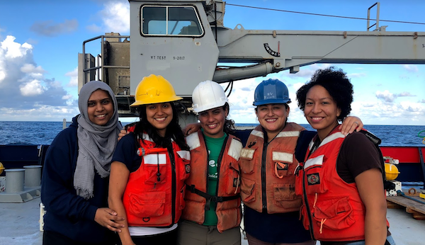
[[[174,142],[176,142],[181,149],[189,149],[188,145],[186,144],[186,141],[184,140],[184,135],[179,125],[179,114],[177,114],[176,106],[173,102],[170,102],[170,104],[173,110],[173,119],[171,120],[169,125],[166,126],[166,132],[164,137],[161,137],[161,135],[158,134],[157,128],[152,126],[152,124],[147,121],[147,105],[139,106],[137,108],[137,110],[140,111],[140,121],[136,124],[135,127],[135,137],[136,139],[143,139],[142,135],[144,132],[146,132],[147,135],[149,135],[149,137],[154,141],[155,144],[157,144],[158,147],[170,147],[171,139],[173,139]],[[139,144],[138,140],[136,140],[136,144]]]

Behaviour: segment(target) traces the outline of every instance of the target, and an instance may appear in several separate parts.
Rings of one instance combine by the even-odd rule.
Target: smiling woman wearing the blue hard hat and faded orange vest
[[[258,125],[240,156],[244,227],[252,244],[315,244],[300,221],[302,200],[295,194],[294,171],[303,161],[314,132],[288,123],[288,88],[277,79],[262,81],[254,92]],[[358,118],[344,130],[353,132]],[[361,127],[358,127],[360,130]]]

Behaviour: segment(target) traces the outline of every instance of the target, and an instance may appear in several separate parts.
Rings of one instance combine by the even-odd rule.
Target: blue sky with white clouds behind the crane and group
[[[366,21],[302,13],[365,18],[375,1],[229,0],[224,25],[249,30],[365,31]],[[270,11],[229,4],[273,8]],[[373,8],[372,16],[375,16]],[[422,0],[380,2],[380,26],[387,31],[425,32]],[[104,33],[130,35],[127,0],[0,1],[0,121],[62,121],[79,113],[77,57],[82,42]],[[100,45],[99,45],[100,46]],[[285,47],[281,47],[285,48]],[[397,47],[395,47],[397,48]],[[424,53],[424,48],[418,52]],[[94,54],[96,56],[96,54]],[[236,123],[258,123],[252,102],[264,79],[280,79],[289,89],[289,120],[307,123],[297,108],[295,92],[314,71],[332,64],[300,67],[266,77],[234,81],[229,95]],[[425,64],[335,64],[354,87],[351,115],[366,125],[425,125]],[[226,86],[227,84],[223,84]]]

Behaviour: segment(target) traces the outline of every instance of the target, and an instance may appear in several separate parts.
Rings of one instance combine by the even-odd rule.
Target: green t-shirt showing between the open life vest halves
[[[227,134],[225,133],[225,135],[220,138],[211,138],[205,135],[203,135],[203,137],[205,137],[208,150],[207,193],[210,195],[217,195],[217,162]],[[217,214],[215,213],[216,206],[215,202],[211,202],[210,210],[205,210],[205,222],[203,225],[217,225]]]

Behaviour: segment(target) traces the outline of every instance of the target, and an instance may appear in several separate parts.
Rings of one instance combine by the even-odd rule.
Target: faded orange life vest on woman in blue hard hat
[[[302,130],[305,128],[296,123],[286,123],[266,146],[261,125],[252,130],[240,160],[244,205],[269,214],[300,210],[294,171],[298,164],[295,147]]]

